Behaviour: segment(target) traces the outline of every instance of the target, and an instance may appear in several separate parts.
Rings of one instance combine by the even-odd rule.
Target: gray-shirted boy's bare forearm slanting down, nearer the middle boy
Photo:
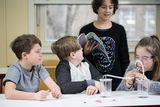
[[[59,88],[59,86],[53,81],[53,79],[48,76],[45,80],[44,83],[49,87],[49,89],[52,92],[52,96],[55,98],[59,98],[61,97],[61,90]]]

